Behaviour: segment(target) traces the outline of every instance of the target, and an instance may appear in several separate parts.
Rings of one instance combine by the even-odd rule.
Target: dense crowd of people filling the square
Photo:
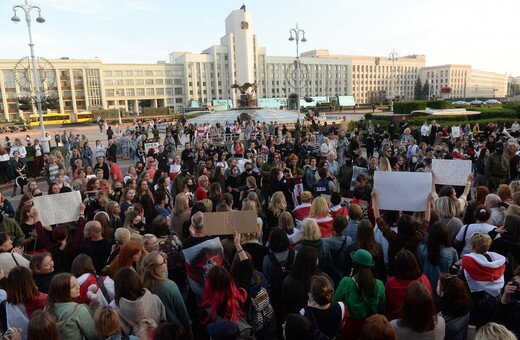
[[[98,123],[106,146],[65,131],[65,154],[32,149],[45,193],[16,180],[21,141],[0,147],[23,193],[16,209],[0,193],[4,338],[520,335],[518,129]],[[422,212],[379,208],[376,171],[436,158],[471,160],[466,186],[433,185]],[[79,219],[43,225],[33,198],[71,191]],[[232,210],[255,211],[256,232],[206,232],[206,213]]]

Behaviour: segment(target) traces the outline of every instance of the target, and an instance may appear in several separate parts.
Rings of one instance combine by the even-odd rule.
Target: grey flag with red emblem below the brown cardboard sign
[[[224,263],[224,249],[218,237],[182,250],[186,259],[186,273],[191,290],[204,295],[204,282],[209,270]]]

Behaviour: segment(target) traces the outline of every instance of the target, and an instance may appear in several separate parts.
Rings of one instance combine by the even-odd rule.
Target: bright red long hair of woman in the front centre
[[[220,266],[215,266],[209,271],[204,283],[204,297],[202,306],[208,308],[208,317],[204,323],[215,321],[218,310],[225,304],[224,320],[237,322],[238,318],[244,316],[242,304],[246,301],[247,292],[244,288],[237,288],[231,278],[229,271]]]

